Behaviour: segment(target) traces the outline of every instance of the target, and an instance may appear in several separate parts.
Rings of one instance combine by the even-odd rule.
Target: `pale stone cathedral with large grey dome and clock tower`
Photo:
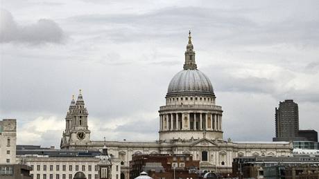
[[[129,178],[134,154],[191,154],[202,171],[231,173],[232,160],[243,156],[291,156],[289,142],[232,142],[223,140],[223,110],[209,78],[198,70],[189,33],[183,70],[169,83],[166,105],[160,106],[159,140],[106,141],[111,156],[121,161],[121,178]],[[104,141],[90,139],[83,95],[71,101],[65,117],[61,149],[102,149]]]

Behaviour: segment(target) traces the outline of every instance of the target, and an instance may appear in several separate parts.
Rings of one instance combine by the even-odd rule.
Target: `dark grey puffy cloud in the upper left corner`
[[[62,43],[65,34],[58,23],[51,19],[40,19],[28,26],[19,26],[11,13],[1,10],[0,42],[24,42],[30,44]]]

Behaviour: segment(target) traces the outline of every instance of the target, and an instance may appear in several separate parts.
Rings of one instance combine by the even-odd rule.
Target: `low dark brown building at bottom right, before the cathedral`
[[[234,158],[232,176],[237,178],[276,178],[319,176],[319,157],[293,156],[293,157],[243,157]],[[281,171],[278,172],[278,171]],[[278,178],[278,177],[277,177]]]

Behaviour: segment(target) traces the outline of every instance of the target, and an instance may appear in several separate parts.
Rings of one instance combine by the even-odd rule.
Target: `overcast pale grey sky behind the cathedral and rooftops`
[[[83,90],[93,140],[157,140],[191,29],[224,138],[270,141],[279,101],[319,131],[319,1],[1,0],[0,118],[18,144],[60,145]]]

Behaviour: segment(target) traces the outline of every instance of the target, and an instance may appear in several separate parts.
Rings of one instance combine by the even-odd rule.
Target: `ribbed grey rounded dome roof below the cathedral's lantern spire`
[[[214,89],[209,78],[200,70],[182,70],[169,83],[167,94],[171,93],[209,93],[214,95]]]

